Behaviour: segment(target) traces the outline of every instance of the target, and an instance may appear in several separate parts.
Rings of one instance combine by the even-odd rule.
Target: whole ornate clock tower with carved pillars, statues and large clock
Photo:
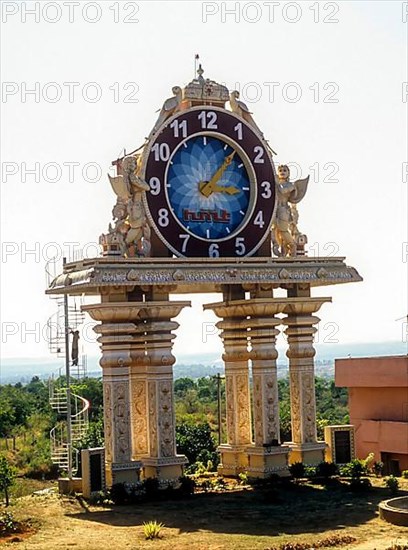
[[[177,479],[173,403],[174,320],[206,304],[224,345],[226,441],[219,472],[288,474],[316,464],[313,347],[316,312],[331,299],[314,287],[361,281],[344,258],[307,256],[298,203],[308,178],[291,181],[239,93],[203,77],[174,86],[145,143],[114,161],[116,195],[101,256],[67,263],[48,294],[86,294],[102,348],[108,483]],[[283,289],[279,297],[276,290]],[[280,440],[276,337],[287,336],[291,441]],[[250,370],[251,367],[251,370]],[[188,376],[188,372],[185,373]]]

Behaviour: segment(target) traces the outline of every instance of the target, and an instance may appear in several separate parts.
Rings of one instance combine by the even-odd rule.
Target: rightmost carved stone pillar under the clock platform
[[[314,384],[313,326],[320,319],[312,315],[330,298],[288,298],[283,323],[287,325],[292,442],[290,462],[317,464],[324,459],[324,442],[317,441]]]

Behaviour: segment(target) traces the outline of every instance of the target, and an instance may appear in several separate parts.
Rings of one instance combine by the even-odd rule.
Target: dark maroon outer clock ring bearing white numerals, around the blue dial
[[[238,150],[240,156],[246,157],[245,164],[249,165],[248,172],[252,176],[250,185],[253,188],[248,215],[237,230],[223,239],[204,239],[189,233],[176,219],[168,201],[165,190],[168,163],[180,144],[194,135],[218,137]],[[272,158],[262,137],[246,121],[229,111],[213,106],[199,106],[170,117],[148,144],[142,177],[150,185],[152,181],[160,182],[160,188],[156,187],[154,193],[147,192],[145,195],[146,211],[157,236],[176,256],[252,256],[270,234],[275,207]],[[165,226],[159,224],[163,212],[168,213]],[[181,231],[189,235],[188,239],[181,237]]]

